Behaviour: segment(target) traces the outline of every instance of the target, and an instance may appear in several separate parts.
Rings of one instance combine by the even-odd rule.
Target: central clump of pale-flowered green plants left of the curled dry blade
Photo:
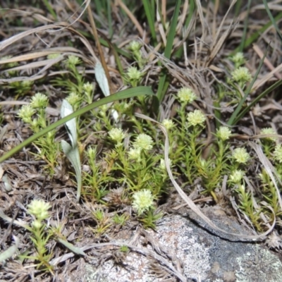
[[[125,148],[123,140],[127,137],[121,128],[109,130],[109,141],[114,147],[104,154],[106,173],[103,173],[101,163],[97,160],[96,149],[90,148],[87,151],[88,164],[92,173],[85,173],[85,191],[83,195],[95,199],[98,202],[113,204],[128,204],[130,199],[133,209],[137,212],[138,218],[145,220],[148,217],[147,226],[154,226],[157,216],[152,216],[150,210],[154,210],[154,200],[157,200],[166,191],[166,169],[164,160],[160,155],[152,157],[149,152],[153,149],[152,137],[140,133]],[[105,187],[126,184],[122,192],[111,192]],[[114,216],[114,222],[123,224],[128,216],[125,214]]]

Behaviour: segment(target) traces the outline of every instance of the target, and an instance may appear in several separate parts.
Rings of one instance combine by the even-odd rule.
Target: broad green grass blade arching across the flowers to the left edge
[[[0,157],[0,163],[8,159],[9,157],[13,156],[13,154],[16,154],[16,152],[20,151],[20,149],[23,149],[27,145],[30,145],[30,143],[37,140],[37,138],[42,137],[46,133],[48,133],[51,130],[54,130],[60,125],[63,125],[63,123],[66,123],[66,121],[70,121],[72,118],[76,118],[77,116],[80,116],[82,114],[85,114],[87,111],[91,111],[92,109],[97,108],[98,106],[102,106],[104,104],[108,104],[111,102],[115,102],[121,99],[128,99],[131,97],[137,97],[141,95],[153,95],[154,92],[152,92],[152,89],[150,87],[140,86],[135,88],[130,88],[127,90],[123,90],[121,92],[117,92],[115,94],[112,94],[109,97],[104,97],[103,99],[93,102],[92,104],[89,104],[82,109],[78,109],[78,111],[75,111],[73,114],[70,114],[66,116],[65,118],[61,118],[59,121],[56,121],[56,123],[52,123],[47,128],[44,128],[39,133],[36,133],[35,135],[30,136],[27,138],[27,140],[20,143],[20,145],[14,147],[9,152],[6,152],[2,157]]]

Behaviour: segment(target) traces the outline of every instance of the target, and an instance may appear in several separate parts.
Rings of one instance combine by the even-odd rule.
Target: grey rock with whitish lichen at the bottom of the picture
[[[204,214],[228,232],[251,235],[220,209],[205,209]],[[157,253],[167,264],[140,252],[125,254],[116,247],[116,255],[98,268],[94,262],[85,264],[84,281],[282,282],[282,263],[276,253],[259,243],[215,234],[192,212],[164,217],[157,231],[121,231],[114,242]]]

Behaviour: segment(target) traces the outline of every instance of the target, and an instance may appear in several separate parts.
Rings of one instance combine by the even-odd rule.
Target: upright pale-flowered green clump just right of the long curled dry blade
[[[178,166],[190,185],[197,178],[202,179],[203,193],[211,194],[217,201],[214,190],[219,187],[224,173],[228,170],[228,139],[231,137],[231,130],[220,127],[216,131],[216,140],[209,150],[209,155],[204,159],[204,137],[201,135],[205,129],[206,116],[198,109],[185,114],[185,107],[194,102],[197,96],[192,90],[184,87],[178,91],[176,98],[180,102],[179,119],[174,122],[163,121],[168,130],[171,148],[176,147],[171,149],[172,163]]]

